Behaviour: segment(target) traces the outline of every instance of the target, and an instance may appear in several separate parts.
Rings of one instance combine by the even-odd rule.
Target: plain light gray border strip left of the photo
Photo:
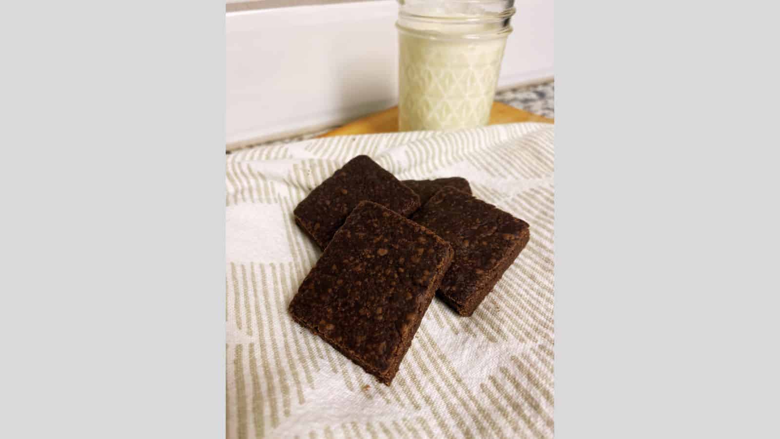
[[[224,2],[0,22],[0,437],[223,437]]]

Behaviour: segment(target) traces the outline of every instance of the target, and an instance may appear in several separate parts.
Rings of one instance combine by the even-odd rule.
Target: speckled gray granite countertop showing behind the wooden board
[[[500,91],[495,95],[495,100],[503,102],[513,107],[524,109],[527,112],[533,112],[540,116],[555,118],[555,80],[544,82],[541,84],[527,85],[523,87],[516,87],[510,90]],[[326,133],[335,127],[328,128],[327,130],[318,130],[311,133],[302,134],[300,136],[288,137],[278,141],[269,141],[258,143],[257,145],[278,145],[282,143],[290,143],[294,141],[303,141],[312,137],[317,137],[320,134]],[[247,148],[250,148],[249,146]]]

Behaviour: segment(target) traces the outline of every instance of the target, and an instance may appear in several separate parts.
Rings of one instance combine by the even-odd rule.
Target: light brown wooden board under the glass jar
[[[514,122],[544,122],[555,123],[548,117],[516,109],[511,105],[493,102],[493,108],[490,112],[489,125],[498,123]],[[395,133],[398,131],[398,107],[386,109],[385,111],[375,112],[358,120],[353,120],[342,127],[328,131],[318,137],[345,136],[348,134],[375,134],[375,133]]]

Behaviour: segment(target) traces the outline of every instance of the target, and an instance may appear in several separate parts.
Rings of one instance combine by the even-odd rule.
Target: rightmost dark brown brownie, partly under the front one
[[[454,187],[444,187],[412,219],[452,245],[455,258],[439,297],[471,316],[530,237],[528,223]]]

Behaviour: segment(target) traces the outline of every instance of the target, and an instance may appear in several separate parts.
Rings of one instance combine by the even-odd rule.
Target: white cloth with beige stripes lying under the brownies
[[[552,437],[554,127],[326,137],[227,156],[227,437]],[[355,155],[400,180],[466,177],[530,224],[477,312],[438,298],[391,387],[293,322],[321,251],[293,221]]]

